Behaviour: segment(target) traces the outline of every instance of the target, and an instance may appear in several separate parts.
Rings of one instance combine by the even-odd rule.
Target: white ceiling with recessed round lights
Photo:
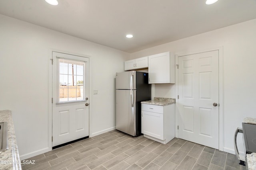
[[[256,0],[205,1],[0,0],[0,14],[128,53],[256,18]]]

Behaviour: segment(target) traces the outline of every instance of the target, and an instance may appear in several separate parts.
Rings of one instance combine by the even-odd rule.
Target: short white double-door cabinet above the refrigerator
[[[148,67],[148,56],[124,62],[124,70],[135,70]]]

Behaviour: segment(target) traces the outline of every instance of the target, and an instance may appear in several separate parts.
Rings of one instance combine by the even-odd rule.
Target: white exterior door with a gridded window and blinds
[[[52,147],[89,136],[89,59],[52,52]]]

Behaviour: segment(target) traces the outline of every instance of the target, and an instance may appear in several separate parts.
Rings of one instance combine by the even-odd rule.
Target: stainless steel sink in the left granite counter
[[[0,122],[0,152],[8,149],[8,127],[7,122]]]

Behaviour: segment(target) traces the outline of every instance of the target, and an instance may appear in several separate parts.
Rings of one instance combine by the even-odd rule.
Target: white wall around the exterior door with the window
[[[51,149],[49,49],[90,56],[90,135],[115,129],[114,78],[128,53],[0,15],[0,110],[12,111],[21,159]]]

